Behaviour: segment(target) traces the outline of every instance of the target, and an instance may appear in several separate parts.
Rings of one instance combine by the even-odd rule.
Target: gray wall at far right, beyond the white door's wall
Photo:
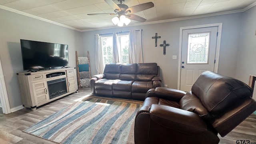
[[[256,6],[245,11],[241,21],[236,78],[248,84],[249,75],[256,75]]]

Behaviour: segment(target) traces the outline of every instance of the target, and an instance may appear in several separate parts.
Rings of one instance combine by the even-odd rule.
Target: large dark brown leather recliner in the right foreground
[[[204,72],[190,92],[147,92],[135,120],[135,144],[218,144],[256,110],[252,89],[234,78]]]

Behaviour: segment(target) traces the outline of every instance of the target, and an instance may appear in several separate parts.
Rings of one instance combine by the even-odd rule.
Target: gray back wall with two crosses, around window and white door
[[[163,84],[167,84],[169,88],[178,88],[178,58],[177,60],[172,60],[172,55],[178,56],[180,27],[223,23],[218,73],[235,77],[240,28],[242,24],[241,20],[242,13],[235,13],[142,26],[89,31],[83,32],[83,45],[85,46],[85,51],[90,51],[91,72],[92,75],[94,75],[96,74],[94,34],[143,29],[142,51],[144,62],[156,62],[160,66],[160,73],[163,80],[162,86]],[[155,47],[154,44],[155,40],[152,39],[152,36],[155,36],[155,33],[158,33],[158,36],[161,36],[161,38],[158,39],[157,47]],[[159,46],[164,40],[170,44],[170,46],[166,47],[166,55],[163,55],[163,47]]]

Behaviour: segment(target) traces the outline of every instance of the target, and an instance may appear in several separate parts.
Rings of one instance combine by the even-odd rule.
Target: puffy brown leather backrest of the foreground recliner
[[[252,96],[252,89],[240,80],[206,71],[192,86],[192,93],[210,113],[216,114],[226,111],[244,96]]]

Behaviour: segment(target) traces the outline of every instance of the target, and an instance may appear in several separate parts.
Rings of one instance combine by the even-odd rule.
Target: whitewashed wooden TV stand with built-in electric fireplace
[[[78,91],[75,68],[20,72],[17,75],[22,104],[25,108],[31,108],[32,111],[38,106]],[[53,94],[52,92],[58,88],[62,90]]]

